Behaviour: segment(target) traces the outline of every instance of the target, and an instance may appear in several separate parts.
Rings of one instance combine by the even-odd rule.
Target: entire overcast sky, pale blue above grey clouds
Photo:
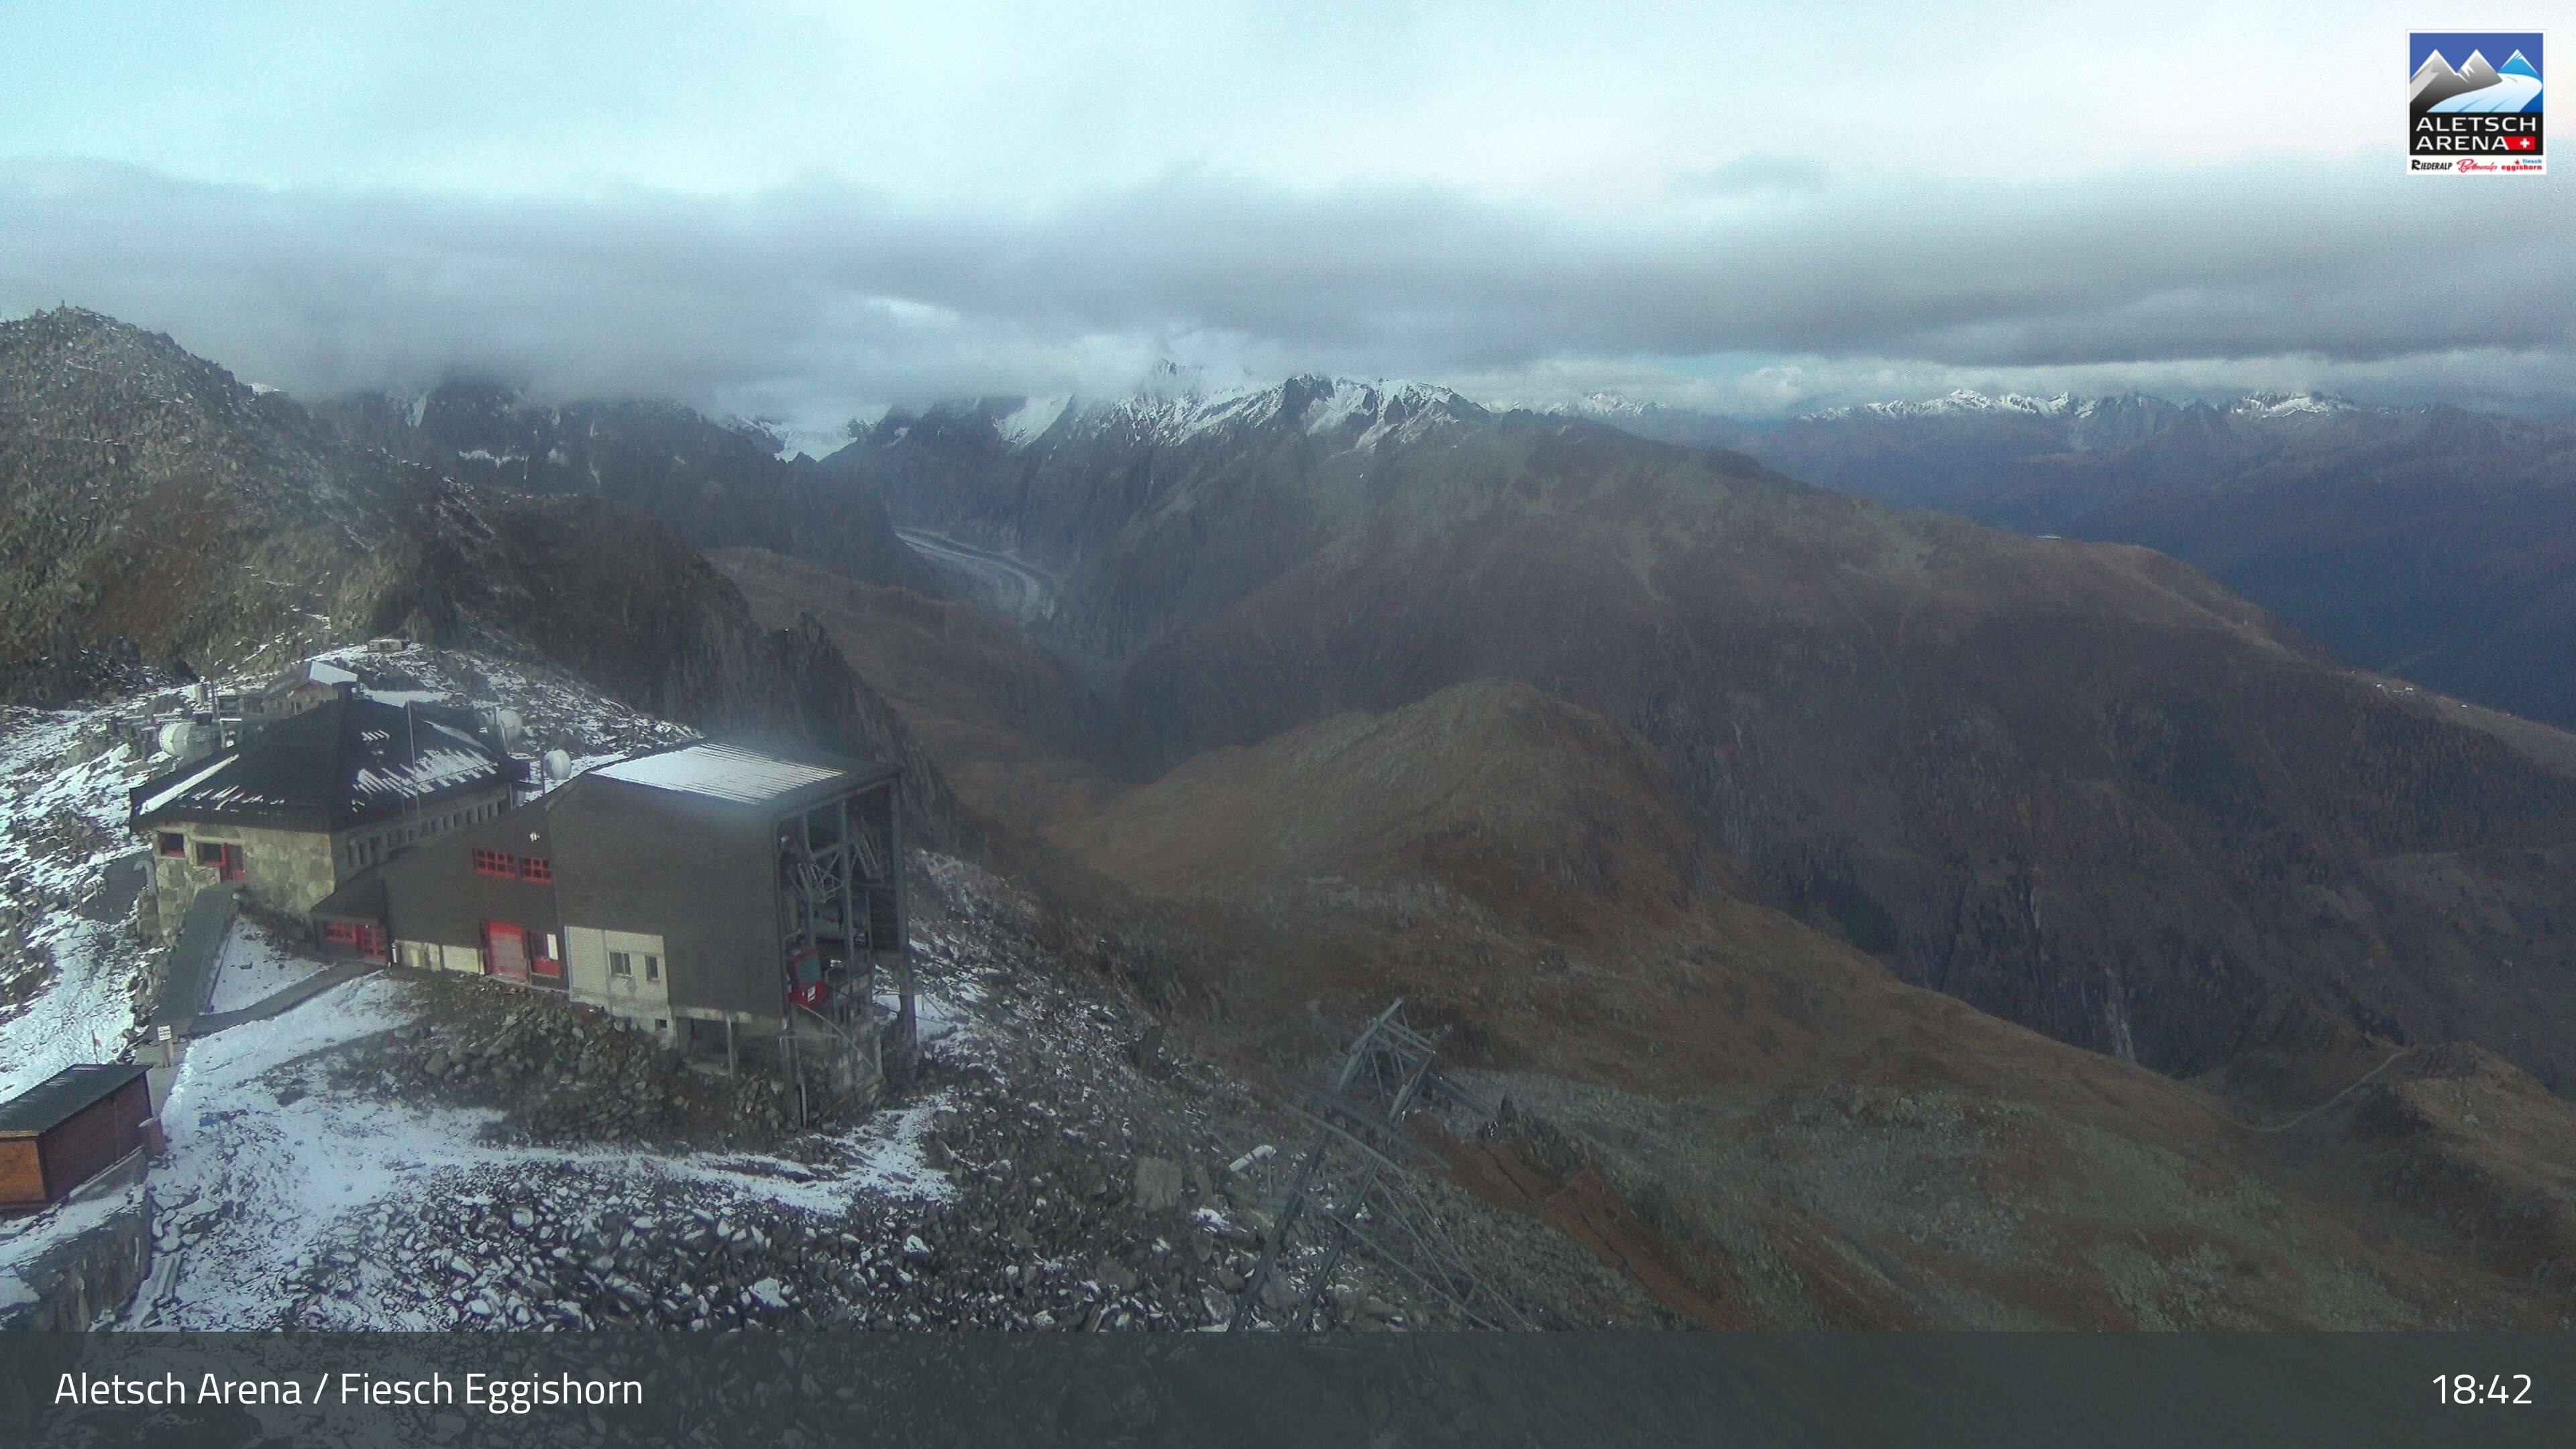
[[[2403,173],[2421,5],[1218,10],[8,5],[0,315],[799,423],[1157,356],[2576,407],[2576,165]]]

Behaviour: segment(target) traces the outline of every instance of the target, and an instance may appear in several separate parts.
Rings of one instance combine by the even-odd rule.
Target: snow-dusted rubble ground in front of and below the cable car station
[[[765,1083],[701,1078],[621,1026],[482,980],[392,972],[309,1018],[191,1047],[152,1186],[165,1261],[131,1320],[1229,1318],[1267,1227],[1275,1109],[1054,954],[1025,897],[951,859],[925,861],[920,884],[925,1070],[819,1132],[793,1129]],[[368,1186],[335,1201],[330,1178],[353,1173]],[[1654,1318],[1579,1248],[1463,1194],[1453,1212],[1528,1258],[1515,1292],[1535,1312]],[[1443,1315],[1358,1261],[1334,1305],[1350,1325]]]

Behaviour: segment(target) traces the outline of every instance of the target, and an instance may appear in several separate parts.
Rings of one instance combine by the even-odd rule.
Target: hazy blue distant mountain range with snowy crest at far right
[[[2360,665],[2576,724],[2576,420],[2324,392],[1953,392],[1785,423],[1613,394],[1548,410],[1880,503],[2164,549]]]

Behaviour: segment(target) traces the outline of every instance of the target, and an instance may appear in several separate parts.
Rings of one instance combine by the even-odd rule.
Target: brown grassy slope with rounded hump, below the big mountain
[[[2391,1201],[2349,1114],[2244,1132],[1739,900],[1641,740],[1520,683],[1216,750],[1051,838],[1244,959],[1236,1029],[1386,995],[1458,1029],[1556,1142],[1450,1145],[1458,1178],[1700,1323],[2558,1312],[2530,1253],[2463,1271],[2476,1222]]]

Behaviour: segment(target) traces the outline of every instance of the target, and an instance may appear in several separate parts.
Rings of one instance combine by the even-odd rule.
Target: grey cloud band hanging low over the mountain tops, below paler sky
[[[1754,160],[1600,217],[1213,170],[1002,211],[840,183],[461,199],[18,160],[0,312],[95,307],[299,392],[477,369],[781,418],[1103,392],[1157,356],[1757,413],[1960,382],[2558,413],[2568,235],[2563,186],[2385,157],[2043,183]]]

